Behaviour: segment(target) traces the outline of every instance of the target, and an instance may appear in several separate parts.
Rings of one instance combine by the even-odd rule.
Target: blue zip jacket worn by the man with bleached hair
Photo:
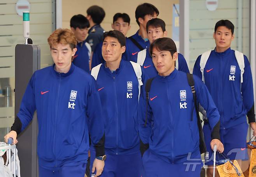
[[[46,168],[86,163],[89,133],[92,144],[104,134],[95,79],[74,64],[66,74],[54,66],[34,72],[17,115],[23,131],[37,110],[37,153]]]

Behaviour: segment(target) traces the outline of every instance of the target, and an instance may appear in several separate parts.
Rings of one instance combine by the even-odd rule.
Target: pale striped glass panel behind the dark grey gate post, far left
[[[0,4],[0,141],[14,121],[15,46],[25,43],[23,19],[16,12],[17,0]],[[55,0],[30,0],[30,38],[41,48],[41,68],[53,64],[47,43],[55,29]]]

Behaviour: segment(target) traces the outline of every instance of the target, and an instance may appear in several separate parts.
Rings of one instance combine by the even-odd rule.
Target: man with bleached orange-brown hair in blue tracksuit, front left
[[[77,40],[69,29],[57,29],[48,38],[54,65],[34,72],[18,115],[5,136],[22,132],[37,110],[40,177],[84,177],[89,134],[96,149],[93,168],[104,167],[104,125],[95,79],[72,64]]]

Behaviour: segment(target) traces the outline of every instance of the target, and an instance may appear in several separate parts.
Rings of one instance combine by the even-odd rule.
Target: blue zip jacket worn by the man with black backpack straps
[[[219,126],[219,112],[205,84],[194,76],[197,101],[207,110],[214,131]],[[149,91],[146,119],[146,91],[140,95],[139,133],[144,144],[168,163],[182,163],[200,155],[199,131],[193,94],[187,74],[176,69],[166,77],[156,76]],[[218,129],[219,130],[219,129]],[[212,139],[219,138],[212,134]]]

